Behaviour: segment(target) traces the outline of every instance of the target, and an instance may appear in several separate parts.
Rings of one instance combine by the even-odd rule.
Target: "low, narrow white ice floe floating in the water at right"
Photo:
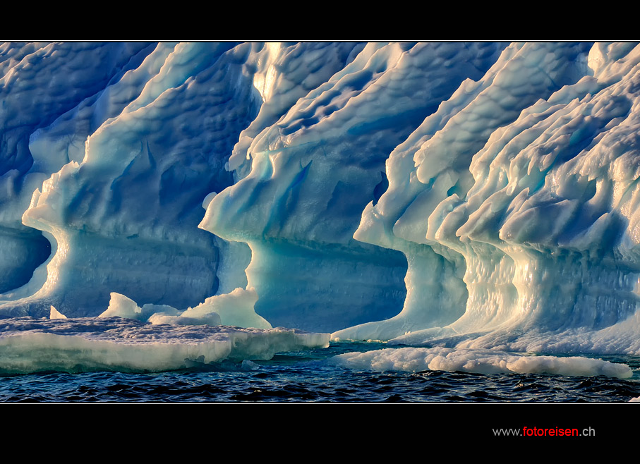
[[[478,374],[555,374],[629,379],[629,366],[579,356],[533,356],[497,350],[454,348],[387,348],[364,353],[344,353],[328,360],[331,365],[360,370],[421,372],[444,370]]]

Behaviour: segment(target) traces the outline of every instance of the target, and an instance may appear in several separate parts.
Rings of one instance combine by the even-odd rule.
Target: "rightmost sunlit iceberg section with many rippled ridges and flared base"
[[[510,348],[540,350],[532,334],[564,337],[632,317],[637,53],[634,44],[512,44],[483,80],[426,118],[391,154],[390,188],[369,204],[356,238],[399,250],[417,243],[423,260],[460,263],[464,313],[421,333],[425,298],[451,305],[450,291],[433,291],[408,298],[394,319],[337,335],[418,329],[397,342],[473,338],[481,347],[500,333]],[[410,265],[420,292],[413,274]]]

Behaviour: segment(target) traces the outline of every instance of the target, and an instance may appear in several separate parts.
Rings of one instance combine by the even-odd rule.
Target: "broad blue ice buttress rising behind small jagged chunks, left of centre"
[[[28,175],[47,176],[35,193],[20,197],[30,200],[20,216],[46,234],[54,254],[46,276],[40,269],[39,281],[4,295],[16,301],[5,305],[7,315],[48,315],[50,305],[72,317],[99,315],[112,292],[184,310],[246,285],[242,274],[217,272],[230,260],[220,248],[241,256],[248,249],[198,229],[203,201],[233,183],[225,164],[241,131],[277,117],[287,99],[304,91],[295,80],[302,76],[284,73],[295,90],[270,92],[278,103],[260,111],[254,80],[273,61],[269,44],[143,45],[147,56],[137,67],[30,135]],[[320,45],[277,50],[328,55],[313,70],[322,81],[344,66],[356,44]],[[66,71],[45,66],[42,75]],[[13,288],[23,283],[15,282]]]

